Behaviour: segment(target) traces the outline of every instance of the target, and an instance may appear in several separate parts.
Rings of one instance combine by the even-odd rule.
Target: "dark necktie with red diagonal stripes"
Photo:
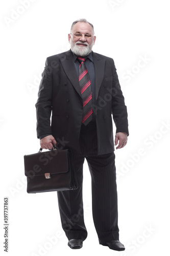
[[[82,123],[87,125],[92,120],[92,92],[91,82],[88,71],[85,66],[85,58],[78,57],[79,66],[79,83],[83,99],[83,117]]]

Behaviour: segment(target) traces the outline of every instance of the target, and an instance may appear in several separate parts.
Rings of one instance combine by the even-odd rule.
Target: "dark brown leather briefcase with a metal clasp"
[[[71,150],[53,150],[24,156],[27,192],[40,193],[78,188]]]

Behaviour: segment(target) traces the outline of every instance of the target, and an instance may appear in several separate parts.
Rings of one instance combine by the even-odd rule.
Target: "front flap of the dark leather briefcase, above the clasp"
[[[52,150],[24,156],[27,177],[68,172],[68,150]]]

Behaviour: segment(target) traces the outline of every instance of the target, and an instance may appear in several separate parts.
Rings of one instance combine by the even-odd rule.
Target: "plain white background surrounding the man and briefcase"
[[[21,2],[25,2],[25,7]],[[9,197],[8,255],[87,255],[92,248],[100,255],[168,255],[168,4],[165,0],[1,2],[3,255],[4,197]],[[78,18],[86,18],[94,25],[93,51],[114,59],[128,108],[128,144],[115,152],[118,223],[120,241],[126,246],[124,252],[99,245],[92,221],[91,178],[86,164],[83,196],[88,237],[81,251],[67,246],[56,193],[30,195],[26,191],[23,155],[39,150],[35,103],[45,59],[69,49],[67,34]],[[127,72],[131,72],[128,78]],[[52,237],[54,244],[49,241]]]

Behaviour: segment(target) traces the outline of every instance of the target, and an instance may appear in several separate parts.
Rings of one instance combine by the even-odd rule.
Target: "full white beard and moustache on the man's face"
[[[78,44],[84,44],[86,47],[79,46]],[[91,45],[87,42],[81,42],[77,41],[76,43],[72,41],[72,38],[70,38],[70,46],[71,46],[71,51],[75,53],[77,56],[87,56],[91,51],[92,47],[94,45],[94,41],[91,42]]]

